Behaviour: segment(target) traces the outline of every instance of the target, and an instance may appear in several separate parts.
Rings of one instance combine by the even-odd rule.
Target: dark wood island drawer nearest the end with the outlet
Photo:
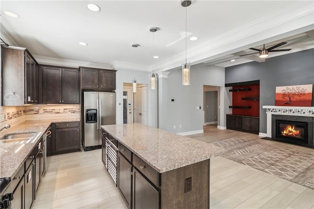
[[[133,166],[135,166],[147,179],[154,183],[157,187],[159,184],[159,174],[154,168],[144,162],[141,158],[133,153]]]

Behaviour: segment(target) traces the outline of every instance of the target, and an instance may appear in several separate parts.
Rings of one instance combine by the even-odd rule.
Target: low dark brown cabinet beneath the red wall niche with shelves
[[[259,133],[260,118],[253,116],[227,114],[227,129]]]

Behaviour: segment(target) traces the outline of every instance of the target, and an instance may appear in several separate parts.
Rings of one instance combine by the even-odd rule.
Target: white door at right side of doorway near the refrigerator
[[[147,85],[137,87],[134,94],[134,123],[147,125]]]

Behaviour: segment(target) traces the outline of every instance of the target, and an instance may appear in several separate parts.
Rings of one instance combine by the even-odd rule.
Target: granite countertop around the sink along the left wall
[[[58,119],[25,121],[14,127],[0,132],[0,138],[12,133],[31,133],[35,136],[27,141],[0,143],[0,178],[13,178],[18,170],[24,166],[24,161],[33,150],[41,136],[45,133],[51,123],[79,122],[79,120]]]

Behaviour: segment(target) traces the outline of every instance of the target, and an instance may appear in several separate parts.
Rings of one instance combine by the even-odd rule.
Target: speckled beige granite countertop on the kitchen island
[[[225,149],[142,124],[106,125],[109,132],[158,173],[225,153]]]

